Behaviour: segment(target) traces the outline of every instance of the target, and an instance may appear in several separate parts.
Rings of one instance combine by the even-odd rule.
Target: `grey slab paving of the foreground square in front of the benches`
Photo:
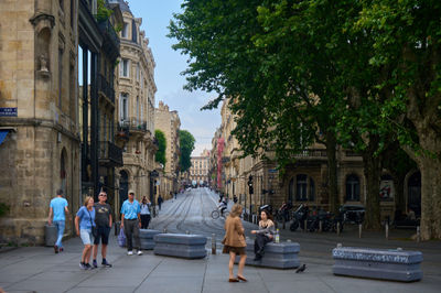
[[[65,241],[65,252],[53,248],[18,248],[0,253],[0,287],[6,292],[439,292],[438,270],[424,273],[420,282],[399,283],[336,276],[332,259],[300,257],[308,263],[304,273],[246,267],[247,283],[228,283],[226,254],[208,254],[202,260],[154,256],[127,256],[110,238],[108,261],[112,268],[82,271],[79,238]],[[1,250],[0,250],[1,252]],[[219,252],[219,250],[218,250]],[[251,256],[249,256],[251,257]],[[100,263],[100,257],[98,258]],[[237,268],[235,268],[236,270]],[[437,272],[438,271],[438,272]]]

